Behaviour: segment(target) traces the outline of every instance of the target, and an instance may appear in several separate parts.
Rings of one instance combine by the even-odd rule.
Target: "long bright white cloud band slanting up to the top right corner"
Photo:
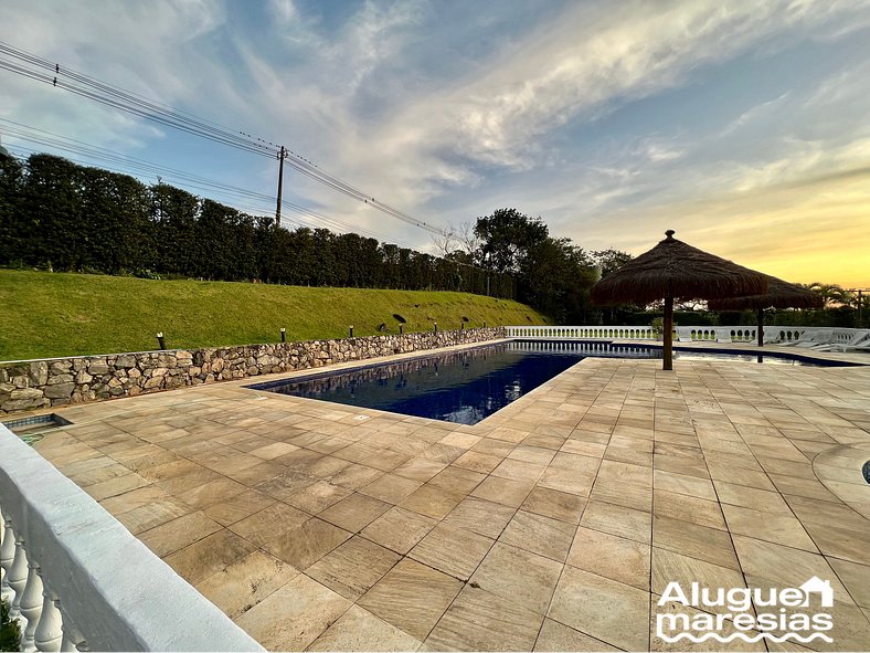
[[[522,167],[535,139],[571,120],[673,87],[773,35],[823,29],[832,13],[788,2],[577,4],[497,53],[484,75],[411,106],[401,122],[428,128],[402,145],[434,137],[473,159]]]

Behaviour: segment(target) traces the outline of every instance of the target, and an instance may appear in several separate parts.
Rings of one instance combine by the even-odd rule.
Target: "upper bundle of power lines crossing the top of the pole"
[[[0,60],[1,70],[7,70],[24,77],[63,88],[106,106],[130,113],[166,127],[179,129],[193,136],[206,138],[221,145],[270,158],[278,156],[282,158],[282,161],[286,160],[288,166],[293,167],[301,175],[337,192],[361,201],[406,224],[423,229],[436,235],[444,235],[442,229],[422,220],[417,220],[404,211],[378,200],[370,193],[356,188],[335,175],[326,172],[306,157],[289,149],[285,150],[283,146],[278,146],[270,140],[256,138],[244,131],[233,131],[229,128],[221,127],[216,123],[194,116],[193,114],[145,98],[113,84],[107,84],[95,77],[77,73],[65,66],[62,67],[57,63],[19,50],[2,41],[0,41],[0,54],[11,59],[11,61]],[[280,148],[280,150],[278,148]],[[282,154],[278,154],[278,151]]]

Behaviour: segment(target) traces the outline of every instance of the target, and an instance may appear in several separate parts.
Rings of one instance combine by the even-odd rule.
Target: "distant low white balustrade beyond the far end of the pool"
[[[652,327],[644,326],[508,326],[508,338],[534,340],[656,340]],[[765,343],[792,343],[807,331],[830,331],[830,327],[765,326]],[[834,329],[857,331],[857,329]],[[754,326],[677,326],[673,341],[677,343],[755,343],[758,339]]]

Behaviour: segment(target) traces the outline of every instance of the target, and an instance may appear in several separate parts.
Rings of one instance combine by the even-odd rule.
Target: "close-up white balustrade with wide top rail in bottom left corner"
[[[23,651],[263,651],[0,424],[2,593]]]

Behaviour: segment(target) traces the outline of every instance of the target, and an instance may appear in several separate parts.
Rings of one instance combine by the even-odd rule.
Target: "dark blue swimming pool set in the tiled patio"
[[[602,341],[512,340],[247,388],[476,424],[590,356],[656,359],[661,358],[661,349]],[[675,351],[676,359],[723,357],[762,362],[755,355]],[[766,354],[763,362],[813,365],[794,356]]]

